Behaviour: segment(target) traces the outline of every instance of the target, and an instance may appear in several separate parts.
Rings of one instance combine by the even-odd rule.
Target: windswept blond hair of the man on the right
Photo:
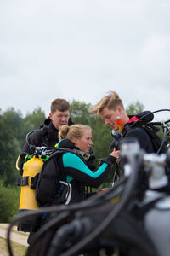
[[[89,112],[98,116],[104,108],[116,110],[117,106],[121,106],[124,109],[122,100],[118,94],[115,91],[111,91],[93,107],[89,108]]]

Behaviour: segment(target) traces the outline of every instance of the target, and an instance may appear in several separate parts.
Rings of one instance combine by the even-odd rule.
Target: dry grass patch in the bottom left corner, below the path
[[[27,247],[11,241],[14,256],[25,256]],[[8,247],[6,239],[0,237],[0,255],[8,256]]]

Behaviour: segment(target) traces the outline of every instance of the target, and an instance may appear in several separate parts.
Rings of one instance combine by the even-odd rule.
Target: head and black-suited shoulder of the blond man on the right
[[[127,129],[130,123],[137,121],[144,115],[144,113],[140,113],[137,116],[130,118],[124,109],[122,100],[116,92],[111,92],[107,96],[104,96],[96,105],[90,108],[89,111],[96,116],[100,115],[105,121],[105,125],[110,125],[114,131],[117,131],[120,128],[117,124],[117,117],[119,117],[122,119],[122,136],[126,138],[135,138],[139,142],[140,148],[143,148],[145,152],[154,152],[150,136],[141,125],[135,125],[132,129]],[[153,117],[150,117],[150,119],[151,118]]]

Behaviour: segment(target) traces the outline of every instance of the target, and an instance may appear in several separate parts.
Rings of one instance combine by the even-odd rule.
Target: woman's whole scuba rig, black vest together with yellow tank
[[[26,210],[36,210],[44,205],[60,205],[70,202],[71,184],[66,183],[65,177],[59,172],[58,161],[59,155],[66,152],[77,154],[69,148],[54,148],[53,152],[46,155],[45,158],[37,154],[37,156],[32,155],[31,159],[26,161],[23,175],[17,181],[17,185],[21,187],[19,214]],[[79,157],[81,156],[79,155]],[[48,190],[47,188],[44,189],[44,179],[47,185],[47,177]],[[52,194],[54,195],[53,198],[51,197]],[[18,230],[34,232],[39,229],[40,225],[41,218],[31,218],[20,223]]]

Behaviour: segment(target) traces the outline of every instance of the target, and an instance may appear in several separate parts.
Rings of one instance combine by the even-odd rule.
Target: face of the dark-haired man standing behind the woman
[[[59,126],[68,125],[69,110],[56,110],[54,113],[49,113],[49,117],[52,120],[54,127],[59,130]]]

